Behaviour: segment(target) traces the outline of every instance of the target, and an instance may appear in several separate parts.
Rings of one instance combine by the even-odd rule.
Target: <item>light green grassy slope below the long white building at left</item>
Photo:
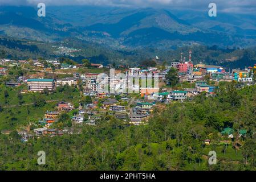
[[[22,125],[43,118],[47,110],[53,110],[60,101],[72,101],[79,105],[80,92],[78,88],[60,86],[56,92],[21,93],[26,86],[6,88],[0,85],[0,130],[15,130]]]

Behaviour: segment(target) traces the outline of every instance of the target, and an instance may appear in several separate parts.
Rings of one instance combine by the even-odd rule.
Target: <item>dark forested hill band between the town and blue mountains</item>
[[[13,39],[9,37],[0,38],[0,58],[9,59],[44,59],[58,57],[54,51],[59,46],[81,49],[75,57],[69,57],[80,63],[84,57],[92,63],[128,64],[135,66],[143,60],[160,57],[159,64],[170,64],[171,61],[179,60],[180,53],[189,57],[192,50],[192,61],[194,64],[205,63],[223,65],[227,69],[245,68],[256,64],[256,47],[240,49],[237,47],[220,48],[218,46],[184,46],[175,49],[160,50],[156,48],[143,49],[113,49],[97,43],[90,43],[79,39],[64,39],[62,42],[42,43],[26,39]]]

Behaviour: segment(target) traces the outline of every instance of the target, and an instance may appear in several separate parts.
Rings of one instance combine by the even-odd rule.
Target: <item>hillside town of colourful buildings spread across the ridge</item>
[[[53,67],[45,67],[50,64]],[[165,67],[122,67],[114,69],[111,65],[90,63],[90,72],[76,72],[84,69],[83,64],[71,65],[60,63],[58,59],[45,60],[0,60],[0,75],[9,74],[13,67],[26,68],[30,65],[34,75],[23,75],[17,80],[6,81],[7,87],[17,88],[26,85],[23,94],[40,92],[51,93],[61,86],[80,88],[81,98],[79,105],[65,100],[59,101],[54,110],[45,110],[44,115],[36,121],[37,128],[32,131],[19,130],[21,140],[27,142],[30,138],[40,136],[62,136],[73,134],[72,128],[58,129],[55,123],[63,113],[67,113],[75,125],[97,125],[100,117],[112,115],[128,125],[147,125],[155,107],[168,102],[184,102],[193,100],[193,97],[204,93],[207,97],[214,97],[219,82],[237,81],[243,85],[253,84],[253,67],[243,70],[233,69],[227,72],[218,65],[193,64],[192,52],[186,61],[181,53],[180,61],[170,62]],[[111,70],[113,74],[111,75]],[[178,84],[168,84],[169,72],[177,72]],[[46,78],[45,73],[51,73],[52,78]],[[63,78],[55,78],[55,75]],[[147,80],[147,81],[146,81]],[[169,86],[168,86],[169,85]],[[221,134],[232,138],[233,129],[225,128]],[[76,131],[79,133],[79,131]],[[241,130],[241,136],[246,130]],[[210,143],[209,139],[205,140]]]

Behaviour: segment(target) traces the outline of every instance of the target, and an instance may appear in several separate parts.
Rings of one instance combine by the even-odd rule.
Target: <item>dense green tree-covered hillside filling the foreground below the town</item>
[[[255,169],[255,91],[256,86],[237,90],[235,83],[220,84],[216,97],[202,93],[193,101],[160,105],[144,126],[129,126],[108,116],[108,121],[101,117],[96,126],[76,127],[79,134],[74,131],[28,143],[22,143],[15,131],[2,134],[0,169]],[[233,140],[221,136],[225,127],[234,129]],[[247,130],[246,137],[238,137],[240,129]],[[209,146],[205,139],[211,140]],[[38,166],[36,154],[41,150],[46,152],[46,165]],[[217,152],[217,165],[209,166],[212,150]]]

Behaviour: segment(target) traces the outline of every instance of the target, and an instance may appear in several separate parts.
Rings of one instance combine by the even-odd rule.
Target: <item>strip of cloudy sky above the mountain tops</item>
[[[218,10],[229,13],[254,13],[256,0],[0,0],[0,5],[30,5],[43,2],[50,5],[97,5],[124,7],[169,7],[200,10],[214,2]]]

